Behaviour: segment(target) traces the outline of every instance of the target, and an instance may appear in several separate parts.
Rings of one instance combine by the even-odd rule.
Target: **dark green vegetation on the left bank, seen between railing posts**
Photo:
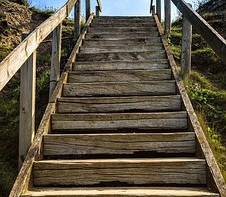
[[[19,7],[19,5],[18,5]],[[25,9],[25,7],[22,7]],[[37,8],[26,8],[32,13],[31,23],[40,24],[53,12],[51,10],[41,11]],[[1,18],[2,19],[2,18]],[[13,31],[7,22],[7,28],[0,19],[0,38],[8,35],[6,31]],[[39,20],[38,22],[36,20]],[[70,55],[73,47],[73,21],[65,20],[63,22],[63,42],[62,42],[62,69]],[[5,33],[5,35],[4,35]],[[19,34],[20,37],[20,34]],[[8,38],[8,37],[7,37]],[[0,44],[0,61],[3,60],[19,43],[7,45]],[[1,42],[0,42],[1,43]],[[43,116],[48,103],[49,91],[49,70],[51,61],[51,37],[48,37],[44,44],[41,44],[37,50],[37,87],[36,87],[36,128]],[[17,176],[18,162],[18,132],[19,132],[19,97],[20,97],[20,74],[19,72],[0,92],[0,196],[5,197],[13,186]]]

